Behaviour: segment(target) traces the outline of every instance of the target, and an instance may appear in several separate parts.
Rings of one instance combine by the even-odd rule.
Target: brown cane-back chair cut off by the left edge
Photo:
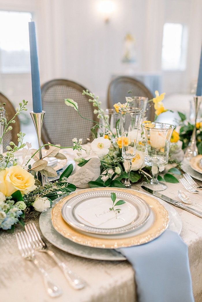
[[[2,106],[5,109],[5,118],[7,119],[7,121],[11,120],[16,113],[15,108],[13,107],[12,103],[8,100],[8,98],[1,92],[0,103],[5,103],[5,105]],[[3,152],[6,151],[6,146],[9,145],[10,141],[14,142],[18,146],[17,133],[20,132],[20,120],[18,116],[15,117],[15,124],[11,124],[11,126],[13,129],[11,131],[8,131],[3,138]]]

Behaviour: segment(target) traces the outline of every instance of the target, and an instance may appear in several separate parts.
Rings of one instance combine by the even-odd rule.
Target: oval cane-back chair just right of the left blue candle
[[[78,110],[83,117],[95,120],[92,102],[88,101],[88,96],[82,95],[83,90],[86,88],[65,79],[54,79],[42,85],[42,108],[46,111],[42,129],[43,143],[72,146],[74,137],[82,138],[83,143],[88,142],[94,122],[82,119],[74,108],[65,104],[66,98],[73,99],[78,103]]]

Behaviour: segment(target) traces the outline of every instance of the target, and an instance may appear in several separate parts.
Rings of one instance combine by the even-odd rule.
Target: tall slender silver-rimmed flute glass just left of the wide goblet
[[[119,117],[121,124],[122,139],[122,157],[124,159],[124,168],[128,174],[124,185],[130,187],[130,171],[132,159],[135,157],[137,133],[139,130],[140,120],[143,109],[141,108],[120,108]]]

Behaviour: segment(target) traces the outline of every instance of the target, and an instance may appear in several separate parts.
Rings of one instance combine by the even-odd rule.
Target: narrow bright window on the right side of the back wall
[[[186,69],[187,31],[180,23],[165,23],[161,53],[163,70]]]

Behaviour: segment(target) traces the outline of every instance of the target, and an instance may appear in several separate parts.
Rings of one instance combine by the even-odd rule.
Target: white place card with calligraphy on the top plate
[[[116,207],[117,208],[117,207]],[[123,214],[117,213],[117,216]],[[91,223],[93,226],[99,226],[100,224],[110,220],[116,219],[116,214],[113,210],[110,211],[109,203],[102,203],[97,206],[92,207],[90,210],[84,210],[78,214],[88,223]]]

